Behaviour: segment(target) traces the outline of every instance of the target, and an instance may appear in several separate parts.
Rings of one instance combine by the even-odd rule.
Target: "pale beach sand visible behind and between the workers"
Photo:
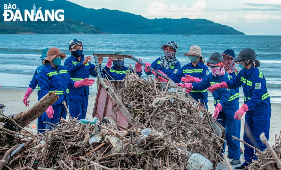
[[[22,111],[28,110],[31,106],[33,106],[37,102],[37,89],[35,89],[31,95],[28,98],[28,101],[30,101],[28,107],[24,105],[22,102],[22,99],[24,97],[24,94],[26,92],[26,89],[24,88],[11,88],[11,87],[1,87],[0,88],[0,104],[4,104],[6,106],[6,111],[4,112],[5,114],[16,114]],[[95,94],[90,94],[89,95],[89,103],[88,103],[88,110],[87,110],[87,119],[92,118],[92,112],[93,112],[93,106],[95,103]],[[208,110],[211,110],[211,113],[214,112],[214,106],[212,106],[212,103],[214,103],[214,100],[209,100],[208,102]],[[243,105],[243,103],[240,103],[240,107]],[[270,134],[269,134],[269,143],[270,145],[274,144],[274,137],[275,134],[277,134],[277,139],[279,138],[280,135],[280,112],[281,112],[281,107],[280,104],[272,104],[272,112],[271,112],[271,119],[270,119]],[[67,116],[68,117],[68,116]],[[243,140],[243,129],[244,129],[244,122],[245,122],[245,114],[243,115],[241,119],[241,139]],[[36,125],[36,128],[32,128],[32,124]],[[37,132],[37,119],[34,120],[32,123],[30,123],[30,127],[26,128],[30,131]],[[244,146],[241,143],[241,148],[244,150]],[[226,148],[227,151],[227,148]],[[226,152],[227,153],[227,152]],[[241,162],[243,161],[244,155],[241,155]],[[231,161],[231,160],[230,160]],[[219,166],[220,163],[218,164],[218,168],[222,168]],[[237,165],[233,166],[237,167]]]

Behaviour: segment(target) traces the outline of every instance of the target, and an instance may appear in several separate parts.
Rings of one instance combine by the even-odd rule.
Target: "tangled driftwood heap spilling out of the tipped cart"
[[[156,83],[154,78],[147,76],[145,80],[133,73],[127,74],[123,83],[118,96],[135,122],[142,123],[144,128],[165,131],[180,147],[216,162],[221,140],[211,126],[212,114],[202,103],[186,97],[185,88],[161,88],[163,84]]]

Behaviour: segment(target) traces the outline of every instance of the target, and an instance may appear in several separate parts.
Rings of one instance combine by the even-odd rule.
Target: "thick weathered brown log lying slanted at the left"
[[[20,112],[17,114],[13,120],[21,127],[25,127],[26,125],[30,124],[36,118],[41,116],[46,110],[52,106],[58,99],[58,95],[54,92],[49,92],[44,97],[42,97],[38,102],[36,102],[30,109],[26,110],[25,112]],[[9,126],[9,124],[14,123],[12,120],[9,120],[5,126]],[[18,127],[19,131],[21,130]]]

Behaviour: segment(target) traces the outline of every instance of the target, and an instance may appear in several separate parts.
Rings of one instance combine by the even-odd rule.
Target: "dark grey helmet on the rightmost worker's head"
[[[260,62],[257,60],[257,54],[255,52],[255,50],[251,49],[251,48],[245,48],[243,50],[241,50],[238,54],[237,57],[233,58],[234,62],[240,62],[240,61],[244,61],[245,60],[251,60],[251,61],[255,61],[255,67],[259,67],[260,66]],[[245,62],[246,64],[246,62]],[[250,64],[250,62],[248,64],[246,64],[246,66],[248,66]]]

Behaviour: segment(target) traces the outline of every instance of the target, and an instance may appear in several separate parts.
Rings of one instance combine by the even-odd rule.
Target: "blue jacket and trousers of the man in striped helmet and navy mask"
[[[67,68],[70,78],[74,82],[89,78],[90,75],[93,77],[97,76],[95,65],[88,62],[84,66],[83,61],[84,54],[80,57],[80,61],[73,55],[65,60],[63,66]],[[69,89],[69,114],[73,118],[78,120],[86,118],[89,94],[89,86]]]

